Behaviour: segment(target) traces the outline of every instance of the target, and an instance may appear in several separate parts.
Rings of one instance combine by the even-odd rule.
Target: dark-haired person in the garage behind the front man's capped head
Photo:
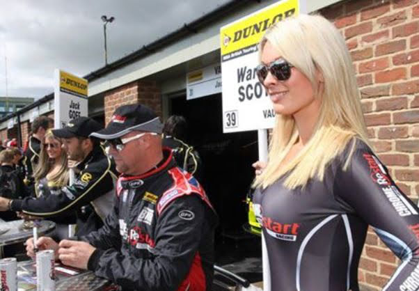
[[[186,143],[187,128],[187,120],[183,116],[169,117],[163,127],[163,146],[173,150],[178,166],[202,182],[202,162],[198,152]]]

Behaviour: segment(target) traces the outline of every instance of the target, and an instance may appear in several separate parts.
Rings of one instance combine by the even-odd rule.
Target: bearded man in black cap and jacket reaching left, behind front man
[[[95,120],[80,117],[63,129],[54,129],[54,136],[63,142],[68,159],[77,162],[71,186],[62,187],[54,195],[39,198],[0,198],[0,211],[13,210],[33,217],[65,216],[77,212],[77,235],[86,235],[104,224],[113,207],[114,164],[106,157],[100,141],[89,137],[102,129]]]

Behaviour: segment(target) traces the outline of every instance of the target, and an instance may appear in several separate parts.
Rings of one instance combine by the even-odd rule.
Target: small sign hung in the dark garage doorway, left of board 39
[[[187,100],[221,92],[221,65],[216,63],[187,73]]]

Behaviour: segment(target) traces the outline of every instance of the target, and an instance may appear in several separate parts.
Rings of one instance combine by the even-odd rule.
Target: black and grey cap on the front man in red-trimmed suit
[[[132,131],[161,134],[162,129],[163,125],[154,111],[141,104],[130,104],[118,107],[106,128],[93,132],[90,136],[116,139]]]

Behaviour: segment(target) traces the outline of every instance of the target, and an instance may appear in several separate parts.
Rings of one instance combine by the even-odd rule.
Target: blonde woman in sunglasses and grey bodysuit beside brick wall
[[[265,287],[359,290],[370,225],[402,260],[384,290],[413,290],[419,210],[369,146],[339,31],[321,16],[285,19],[262,38],[257,72],[276,112],[253,198],[269,258]]]

